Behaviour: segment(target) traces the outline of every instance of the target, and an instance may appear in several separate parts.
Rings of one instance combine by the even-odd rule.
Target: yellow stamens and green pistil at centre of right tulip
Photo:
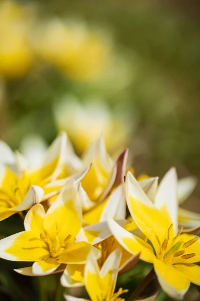
[[[160,247],[160,254],[158,255],[158,259],[161,259],[166,263],[172,263],[172,260],[175,257],[180,257],[181,259],[189,259],[194,257],[195,253],[187,253],[186,248],[188,248],[193,243],[195,243],[198,240],[198,237],[196,236],[188,240],[187,242],[183,242],[181,241],[181,239],[177,241],[177,238],[180,236],[182,232],[182,227],[181,227],[178,234],[173,239],[170,239],[170,231],[172,227],[173,224],[171,224],[168,228],[167,239],[164,239]]]

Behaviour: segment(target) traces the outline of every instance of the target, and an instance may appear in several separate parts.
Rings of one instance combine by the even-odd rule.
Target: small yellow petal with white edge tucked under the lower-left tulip
[[[60,278],[64,287],[79,287],[84,285],[84,264],[67,264]]]

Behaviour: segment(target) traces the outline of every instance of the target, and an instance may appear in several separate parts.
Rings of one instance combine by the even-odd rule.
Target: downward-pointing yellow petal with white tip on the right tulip
[[[180,300],[188,290],[190,281],[184,274],[173,266],[155,259],[154,270],[161,288],[171,298]]]

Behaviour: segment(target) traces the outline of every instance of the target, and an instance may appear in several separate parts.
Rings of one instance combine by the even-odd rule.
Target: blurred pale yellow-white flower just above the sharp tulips
[[[110,154],[123,150],[130,136],[130,120],[125,112],[111,111],[102,99],[80,104],[66,95],[54,108],[59,130],[66,130],[79,153],[102,132]]]

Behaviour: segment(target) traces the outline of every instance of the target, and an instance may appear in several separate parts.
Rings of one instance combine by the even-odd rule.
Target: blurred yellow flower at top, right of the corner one
[[[91,81],[106,65],[109,43],[84,24],[55,19],[41,25],[35,39],[38,55],[75,81]]]

